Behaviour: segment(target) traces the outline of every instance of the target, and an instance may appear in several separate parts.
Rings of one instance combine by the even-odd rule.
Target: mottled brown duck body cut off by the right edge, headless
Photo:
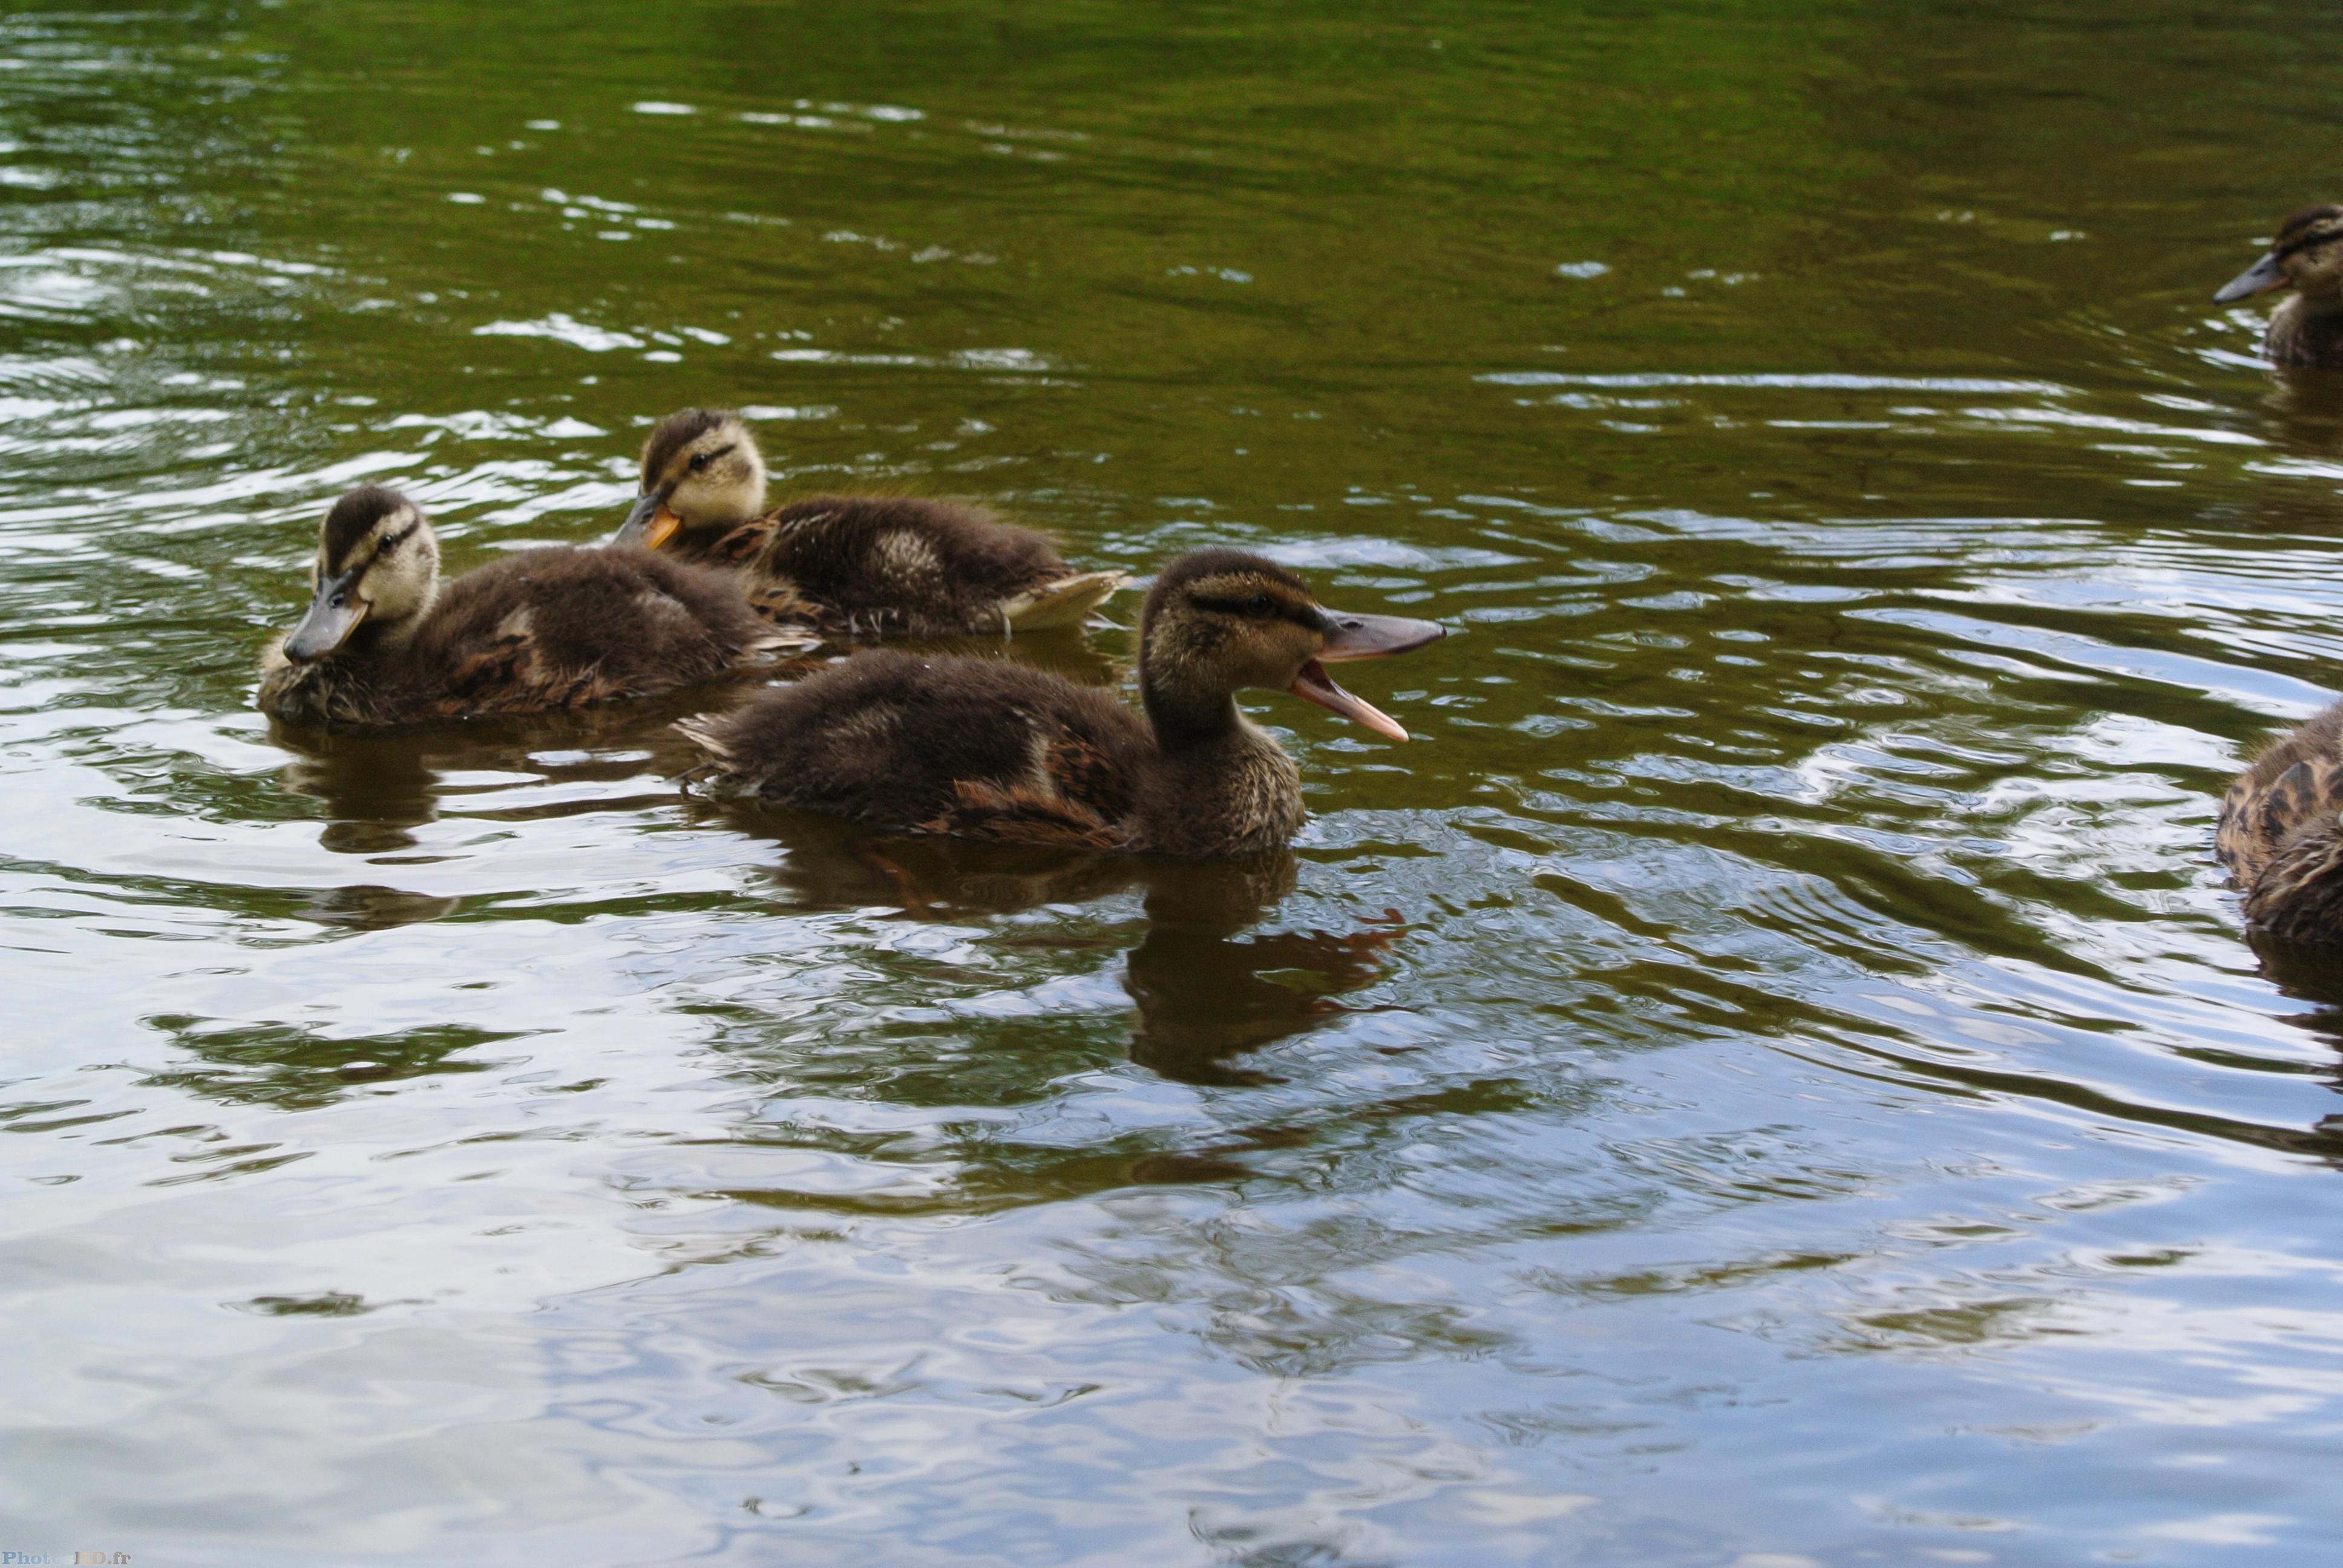
[[[2284,942],[2343,947],[2343,703],[2261,752],[2221,799],[2214,851],[2245,919]]]

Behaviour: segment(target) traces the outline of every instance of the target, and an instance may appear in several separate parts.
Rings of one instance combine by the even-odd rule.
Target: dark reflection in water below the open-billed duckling
[[[778,830],[787,855],[771,874],[787,902],[808,909],[893,905],[904,919],[951,921],[1143,891],[1143,933],[1122,977],[1139,1008],[1132,1062],[1179,1083],[1275,1083],[1232,1057],[1354,1013],[1338,998],[1373,984],[1406,933],[1392,909],[1350,933],[1246,935],[1293,893],[1298,863],[1289,851],[1251,860],[1036,851],[876,837],[811,813],[759,816],[757,830]],[[1073,933],[1050,940],[1101,945]]]

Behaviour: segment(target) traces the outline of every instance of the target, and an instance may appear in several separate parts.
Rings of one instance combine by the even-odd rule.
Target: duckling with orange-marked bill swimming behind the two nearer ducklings
[[[1033,530],[958,502],[827,495],[766,511],[757,438],[710,408],[651,431],[616,541],[726,567],[759,614],[832,638],[1080,626],[1125,581],[1075,572]]]

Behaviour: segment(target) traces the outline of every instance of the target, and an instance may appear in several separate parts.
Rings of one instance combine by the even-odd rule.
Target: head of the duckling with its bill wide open
[[[1328,663],[1385,659],[1446,638],[1443,626],[1326,609],[1284,567],[1244,551],[1181,555],[1139,614],[1139,694],[1160,738],[1235,722],[1242,689],[1291,691],[1375,734],[1406,741],[1326,675]]]

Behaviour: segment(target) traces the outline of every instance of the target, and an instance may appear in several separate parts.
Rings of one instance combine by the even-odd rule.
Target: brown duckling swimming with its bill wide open
[[[890,830],[1263,855],[1303,825],[1300,773],[1235,694],[1291,691],[1406,741],[1326,666],[1443,635],[1324,609],[1261,555],[1197,551],[1164,567],[1139,619],[1146,717],[1015,663],[865,652],[677,729],[710,755],[719,792]]]

